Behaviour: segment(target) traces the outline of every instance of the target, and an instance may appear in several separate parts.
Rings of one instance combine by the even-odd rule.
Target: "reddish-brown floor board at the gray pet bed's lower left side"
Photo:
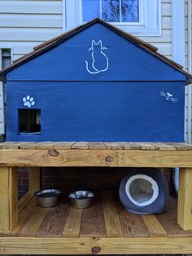
[[[124,210],[124,206],[120,203],[118,196],[114,195],[114,198],[124,237],[149,237],[150,234],[142,220],[142,216],[130,214],[128,211]]]

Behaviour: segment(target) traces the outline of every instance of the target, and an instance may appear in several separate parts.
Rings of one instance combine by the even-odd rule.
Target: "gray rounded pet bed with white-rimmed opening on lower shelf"
[[[168,205],[168,183],[155,168],[130,170],[120,183],[120,201],[133,214],[160,214]]]

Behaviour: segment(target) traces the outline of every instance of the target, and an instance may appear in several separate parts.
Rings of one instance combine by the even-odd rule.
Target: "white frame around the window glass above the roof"
[[[139,0],[139,22],[111,22],[118,28],[137,36],[161,35],[161,0]],[[65,28],[68,31],[82,24],[82,0],[63,1]]]

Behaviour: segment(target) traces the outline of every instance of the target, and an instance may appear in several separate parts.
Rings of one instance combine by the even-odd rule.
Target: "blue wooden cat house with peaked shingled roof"
[[[95,19],[2,70],[7,141],[183,142],[191,75]]]

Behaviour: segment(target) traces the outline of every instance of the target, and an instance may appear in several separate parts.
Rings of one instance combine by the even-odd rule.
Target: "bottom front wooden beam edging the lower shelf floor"
[[[0,237],[0,254],[191,254],[190,238]]]

